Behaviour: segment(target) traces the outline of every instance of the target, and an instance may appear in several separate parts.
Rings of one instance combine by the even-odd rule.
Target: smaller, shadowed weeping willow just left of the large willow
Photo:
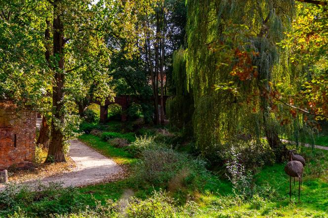
[[[185,127],[192,134],[192,115],[194,98],[186,74],[185,50],[179,49],[173,53],[172,82],[175,86],[175,96],[166,102],[166,115],[170,122],[179,127]]]

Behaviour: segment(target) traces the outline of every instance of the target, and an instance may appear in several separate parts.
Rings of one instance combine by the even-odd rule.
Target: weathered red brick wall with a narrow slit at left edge
[[[0,170],[33,166],[36,122],[36,112],[0,102]]]

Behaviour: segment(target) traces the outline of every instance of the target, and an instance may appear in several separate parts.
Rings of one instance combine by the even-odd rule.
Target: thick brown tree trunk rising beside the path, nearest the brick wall
[[[53,54],[58,63],[54,69],[54,85],[52,87],[52,121],[51,121],[51,142],[49,145],[46,162],[66,162],[63,152],[64,135],[57,126],[64,122],[64,26],[60,16],[60,8],[54,2],[53,8]]]

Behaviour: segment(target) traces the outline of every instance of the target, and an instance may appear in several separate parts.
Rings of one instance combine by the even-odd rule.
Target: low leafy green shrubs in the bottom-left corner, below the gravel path
[[[24,214],[24,217],[49,217],[50,214],[73,213],[80,209],[82,196],[78,190],[63,189],[60,183],[33,186],[8,184],[0,192],[0,217],[16,212]]]

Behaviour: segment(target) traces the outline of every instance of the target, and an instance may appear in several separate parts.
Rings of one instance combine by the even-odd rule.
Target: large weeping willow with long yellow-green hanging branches
[[[281,67],[287,61],[286,51],[277,42],[290,26],[294,1],[188,0],[187,4],[187,77],[194,94],[197,145],[210,154],[223,149],[237,133],[255,140],[266,137],[276,161],[282,161],[285,148],[279,134],[290,127],[280,127],[269,95],[275,79],[291,81]],[[217,84],[231,87],[215,91]]]

